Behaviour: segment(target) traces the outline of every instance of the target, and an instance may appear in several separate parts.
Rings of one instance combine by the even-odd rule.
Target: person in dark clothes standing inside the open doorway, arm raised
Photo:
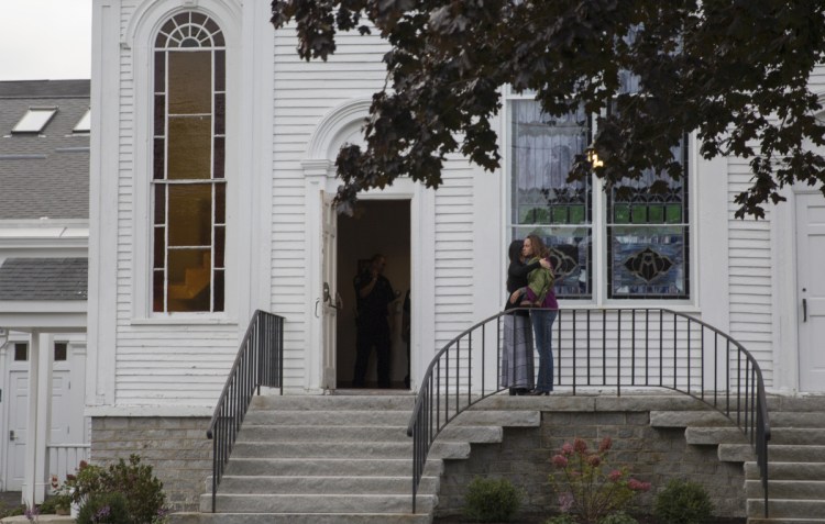
[[[370,355],[375,349],[378,387],[389,388],[389,306],[395,301],[395,291],[386,277],[386,258],[376,254],[365,270],[354,280],[358,316],[355,317],[355,374],[352,386],[363,388]]]

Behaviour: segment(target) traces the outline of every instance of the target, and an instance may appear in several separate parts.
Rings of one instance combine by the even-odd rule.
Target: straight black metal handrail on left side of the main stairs
[[[261,386],[280,388],[284,394],[284,317],[256,310],[207,430],[207,438],[212,439],[212,513],[232,446]]]

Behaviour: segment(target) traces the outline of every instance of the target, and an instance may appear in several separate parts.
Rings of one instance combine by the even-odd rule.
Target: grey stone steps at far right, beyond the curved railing
[[[684,427],[688,444],[718,446],[719,460],[743,462],[748,524],[825,524],[825,398],[770,397],[768,509],[756,455],[715,411],[651,412],[653,427]]]

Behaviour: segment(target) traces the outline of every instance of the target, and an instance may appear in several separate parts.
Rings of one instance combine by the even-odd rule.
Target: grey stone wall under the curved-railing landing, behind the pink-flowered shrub
[[[550,458],[562,444],[582,437],[592,448],[609,436],[610,466],[625,466],[630,476],[652,488],[638,499],[652,508],[656,493],[670,479],[702,483],[717,516],[745,514],[745,473],[741,464],[721,462],[716,446],[690,446],[684,430],[650,427],[649,412],[543,412],[541,427],[505,428],[501,444],[473,444],[470,459],[446,461],[437,515],[461,513],[466,486],[474,477],[507,478],[522,488],[525,513],[558,512],[557,494],[548,480],[554,470]]]

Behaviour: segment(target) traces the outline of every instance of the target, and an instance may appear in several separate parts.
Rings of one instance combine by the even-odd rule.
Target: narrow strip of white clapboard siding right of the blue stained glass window
[[[750,185],[751,172],[747,160],[728,160],[728,271],[730,336],[739,341],[754,357],[766,380],[772,384],[772,261],[771,205],[766,207],[766,219],[735,219],[734,197]]]

